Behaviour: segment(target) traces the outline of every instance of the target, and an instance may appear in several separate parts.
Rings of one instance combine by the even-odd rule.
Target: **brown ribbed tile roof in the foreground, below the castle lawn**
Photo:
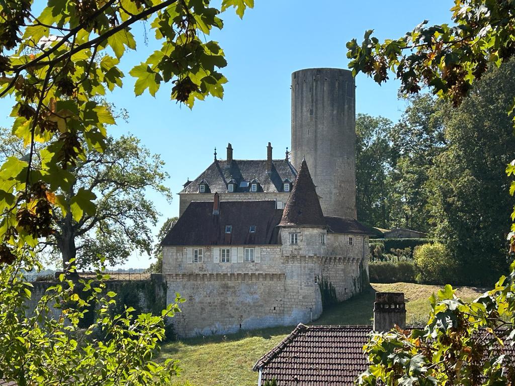
[[[352,385],[366,370],[363,346],[371,326],[299,324],[253,367],[262,370],[262,385],[276,378],[280,386]]]

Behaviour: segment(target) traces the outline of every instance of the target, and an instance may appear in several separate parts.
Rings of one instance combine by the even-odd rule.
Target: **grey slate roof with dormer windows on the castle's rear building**
[[[293,181],[296,176],[297,171],[286,160],[273,160],[270,173],[266,171],[266,160],[232,160],[231,163],[216,160],[190,184],[185,184],[179,194],[198,193],[198,186],[202,180],[208,183],[209,191],[212,193],[227,192],[230,180],[236,181],[235,192],[247,192],[249,186],[245,182],[249,183],[253,179],[260,183],[258,191],[278,192],[283,191],[283,182],[286,179]]]

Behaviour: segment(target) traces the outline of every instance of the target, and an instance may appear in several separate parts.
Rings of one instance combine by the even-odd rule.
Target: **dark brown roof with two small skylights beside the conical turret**
[[[282,210],[275,200],[220,201],[219,214],[213,215],[213,201],[193,201],[162,245],[254,245],[277,244]],[[232,232],[225,233],[225,226]],[[250,226],[255,225],[255,233]]]

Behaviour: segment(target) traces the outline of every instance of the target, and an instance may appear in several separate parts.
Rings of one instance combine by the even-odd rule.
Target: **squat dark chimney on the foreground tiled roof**
[[[376,292],[374,327],[377,332],[389,331],[394,325],[406,327],[406,303],[403,292]]]

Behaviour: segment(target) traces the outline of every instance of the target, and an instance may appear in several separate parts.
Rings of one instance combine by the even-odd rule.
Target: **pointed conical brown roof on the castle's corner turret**
[[[326,226],[320,201],[306,160],[300,164],[291,194],[286,201],[279,226]]]

